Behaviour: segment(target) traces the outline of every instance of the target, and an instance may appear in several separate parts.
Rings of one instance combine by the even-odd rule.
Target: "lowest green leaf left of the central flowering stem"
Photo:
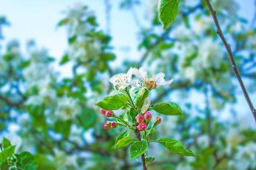
[[[144,154],[144,152],[147,150],[147,147],[148,143],[146,140],[134,142],[130,148],[130,158],[134,159]]]

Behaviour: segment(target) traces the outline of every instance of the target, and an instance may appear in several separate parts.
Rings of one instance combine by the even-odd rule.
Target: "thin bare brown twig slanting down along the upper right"
[[[228,52],[228,56],[229,56],[229,59],[231,61],[231,64],[232,64],[232,67],[233,67],[233,70],[234,70],[234,73],[236,75],[236,78],[239,82],[239,85],[243,91],[243,94],[244,94],[244,97],[245,97],[245,100],[247,101],[247,104],[249,105],[250,109],[251,109],[251,112],[253,114],[253,117],[254,117],[254,120],[256,122],[256,109],[254,108],[253,104],[252,104],[252,101],[250,99],[250,96],[248,95],[247,93],[247,90],[244,86],[244,82],[241,78],[241,75],[236,67],[236,62],[235,62],[235,59],[234,59],[234,56],[233,56],[233,53],[232,53],[232,50],[231,50],[231,47],[230,47],[230,44],[227,43],[227,40],[226,38],[224,37],[223,33],[222,33],[222,30],[221,30],[221,27],[220,27],[220,23],[219,23],[219,20],[217,18],[217,15],[216,15],[216,11],[213,10],[213,7],[210,3],[209,0],[205,0],[206,4],[207,4],[207,7],[209,8],[210,10],[210,13],[212,15],[212,18],[213,18],[213,21],[215,23],[215,26],[216,26],[216,29],[217,29],[217,34],[219,35],[222,43],[224,44],[227,52]]]

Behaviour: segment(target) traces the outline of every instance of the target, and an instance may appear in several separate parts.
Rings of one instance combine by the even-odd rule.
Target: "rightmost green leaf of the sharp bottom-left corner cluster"
[[[24,170],[36,170],[37,161],[36,158],[29,152],[21,152],[17,155],[18,163],[17,166]]]

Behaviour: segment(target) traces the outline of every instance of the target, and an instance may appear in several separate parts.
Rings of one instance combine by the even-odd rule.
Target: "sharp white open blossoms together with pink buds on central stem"
[[[132,75],[135,76],[136,80],[132,80]],[[129,95],[133,96],[132,98],[136,98],[136,95],[134,95],[138,89],[146,88],[148,90],[153,90],[156,87],[159,86],[167,86],[172,83],[172,79],[169,81],[165,81],[164,79],[165,74],[164,73],[157,73],[153,75],[152,77],[148,77],[148,73],[143,70],[142,68],[137,69],[131,67],[127,73],[120,73],[116,74],[113,77],[109,79],[109,81],[113,84],[114,88],[116,90],[124,90],[127,87],[132,88],[132,90],[129,93]],[[130,89],[129,88],[129,89]],[[132,101],[133,102],[133,101]],[[151,121],[152,115],[151,112],[148,111],[148,108],[150,106],[150,98],[146,97],[143,101],[143,105],[141,107],[140,112],[135,116],[136,120],[136,128],[139,131],[145,131],[147,129],[147,126],[149,122]],[[105,109],[100,108],[100,113],[107,116],[107,117],[115,117],[113,111],[107,111]],[[161,118],[156,117],[156,120],[153,123],[153,127],[161,123]],[[117,122],[110,122],[106,121],[103,124],[104,129],[113,129],[116,128]]]

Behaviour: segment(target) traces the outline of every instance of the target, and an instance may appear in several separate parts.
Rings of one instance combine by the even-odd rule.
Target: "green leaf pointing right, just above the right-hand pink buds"
[[[182,115],[180,106],[174,102],[162,102],[153,105],[152,109],[163,115]]]

